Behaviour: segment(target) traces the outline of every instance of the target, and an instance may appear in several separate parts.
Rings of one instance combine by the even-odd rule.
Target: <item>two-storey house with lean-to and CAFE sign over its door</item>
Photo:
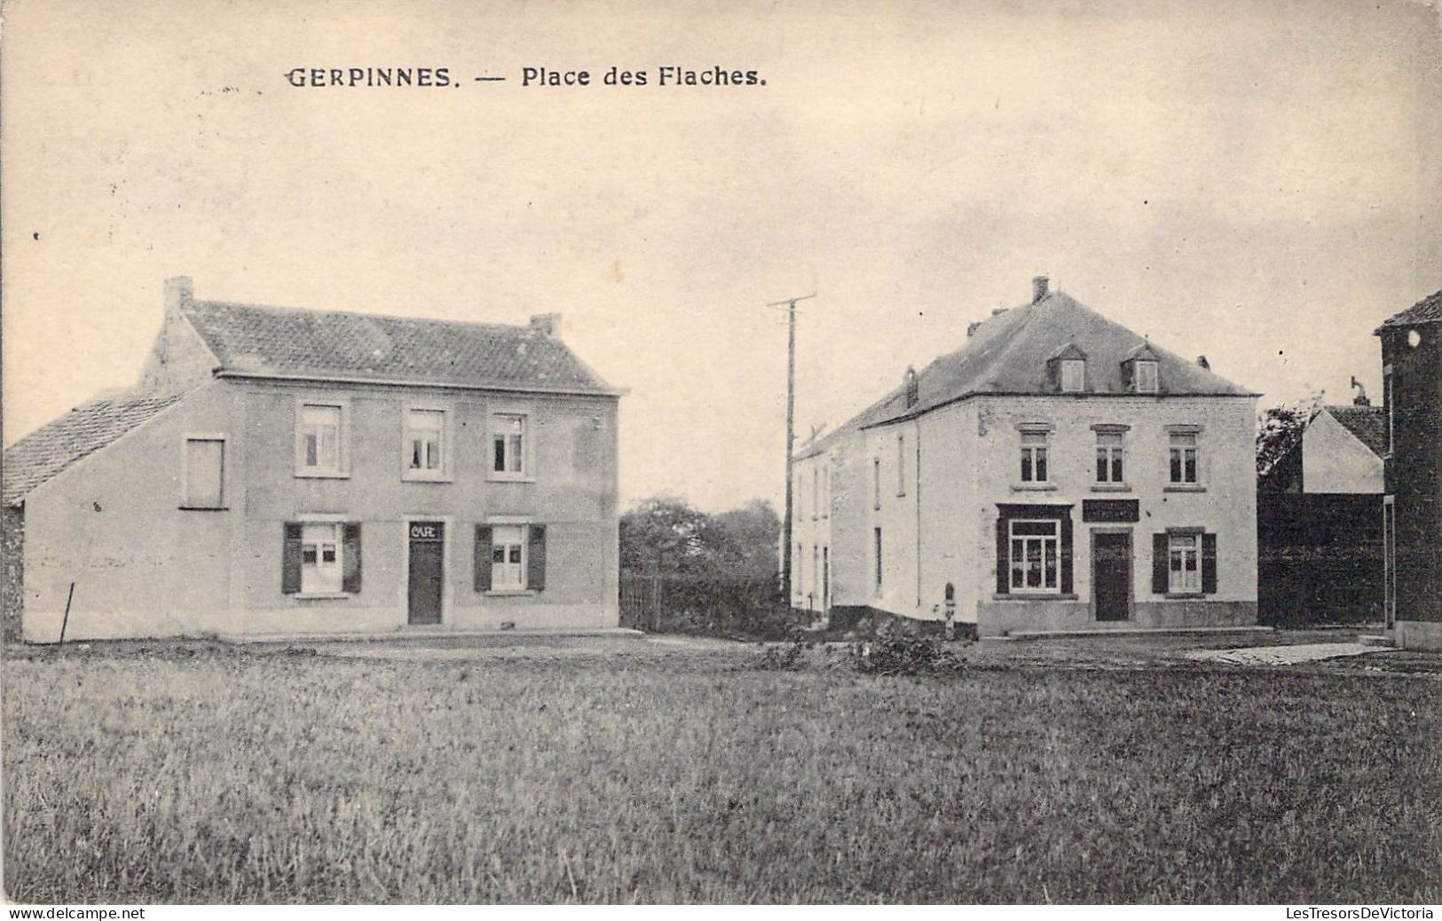
[[[620,391],[529,326],[202,301],[4,453],[23,633],[617,624]],[[10,584],[20,579],[7,579]]]

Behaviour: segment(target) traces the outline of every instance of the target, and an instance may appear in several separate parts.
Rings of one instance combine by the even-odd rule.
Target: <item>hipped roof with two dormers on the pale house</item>
[[[1107,320],[1064,291],[1053,291],[1040,301],[994,313],[976,326],[963,347],[927,365],[919,372],[914,406],[906,405],[906,386],[897,386],[797,457],[825,450],[848,431],[920,415],[965,396],[1056,393],[1047,383],[1047,360],[1069,346],[1087,356],[1090,393],[1128,393],[1122,362],[1148,346],[1156,356],[1162,395],[1256,396]]]

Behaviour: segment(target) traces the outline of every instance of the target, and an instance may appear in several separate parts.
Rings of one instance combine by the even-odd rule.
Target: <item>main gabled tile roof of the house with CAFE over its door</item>
[[[222,372],[613,392],[535,326],[190,301],[182,314]]]

